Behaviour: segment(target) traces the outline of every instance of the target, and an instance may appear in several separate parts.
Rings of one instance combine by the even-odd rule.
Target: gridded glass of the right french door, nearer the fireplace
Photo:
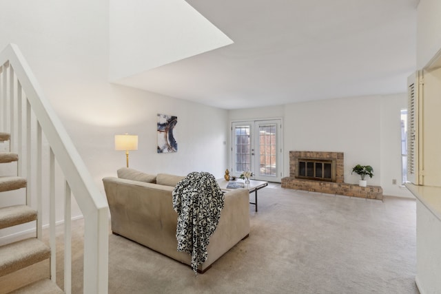
[[[276,176],[276,125],[259,125],[260,175]]]

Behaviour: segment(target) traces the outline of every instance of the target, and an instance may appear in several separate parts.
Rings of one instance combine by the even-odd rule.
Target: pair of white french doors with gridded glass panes
[[[282,122],[252,120],[232,123],[232,175],[252,171],[255,180],[282,179]]]

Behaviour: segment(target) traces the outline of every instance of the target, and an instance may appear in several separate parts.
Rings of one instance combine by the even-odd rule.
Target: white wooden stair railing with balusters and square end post
[[[41,238],[42,235],[42,212],[49,216],[52,280],[56,279],[55,203],[60,200],[55,196],[55,180],[58,175],[55,174],[54,166],[57,162],[65,182],[65,193],[61,198],[65,207],[64,291],[70,293],[72,284],[70,270],[72,193],[84,217],[83,293],[107,293],[109,242],[107,201],[94,184],[72,140],[48,99],[43,95],[19,48],[14,44],[8,45],[0,52],[0,115],[2,116],[0,131],[11,133],[11,147],[21,158],[18,167],[19,176],[28,179],[26,202],[38,209],[37,238]],[[50,156],[49,162],[44,162],[43,165],[44,152],[48,152]],[[49,176],[43,177],[43,174]],[[31,189],[31,178],[34,175],[37,188]],[[42,195],[43,186],[46,184],[50,190],[50,199],[46,201],[49,203],[43,201]],[[32,201],[37,203],[34,204]]]

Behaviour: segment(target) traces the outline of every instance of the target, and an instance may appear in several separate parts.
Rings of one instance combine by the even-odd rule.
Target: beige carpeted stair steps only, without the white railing
[[[17,162],[19,155],[10,152],[10,134],[0,133],[0,143],[9,143],[8,152],[0,152],[0,163]],[[0,192],[17,189],[26,189],[26,179],[17,175],[0,176]],[[23,197],[25,198],[25,197]],[[19,224],[37,221],[37,211],[26,204],[0,207],[0,229],[14,227]],[[35,227],[37,232],[37,226]],[[34,264],[49,260],[50,248],[34,238],[25,238],[17,242],[0,246],[0,293],[63,293],[63,291],[48,277],[37,281],[29,278],[23,279],[25,269],[30,269]],[[17,271],[21,271],[17,273]],[[50,269],[46,269],[50,275]],[[25,275],[29,277],[30,275]],[[17,282],[20,281],[20,282]]]

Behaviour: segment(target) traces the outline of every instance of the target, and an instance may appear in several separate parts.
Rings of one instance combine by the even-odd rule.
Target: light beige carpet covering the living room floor
[[[109,293],[418,293],[415,200],[275,187],[258,191],[258,212],[250,204],[249,238],[197,277],[110,235]],[[82,293],[81,248],[73,251],[72,293]]]

